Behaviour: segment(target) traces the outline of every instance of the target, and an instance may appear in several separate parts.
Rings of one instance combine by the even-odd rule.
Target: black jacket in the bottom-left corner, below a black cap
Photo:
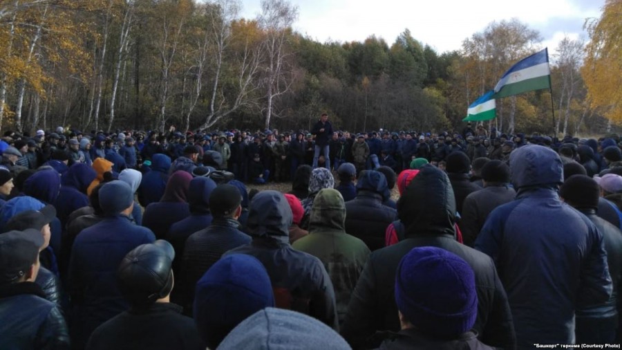
[[[60,308],[44,297],[33,282],[0,286],[1,349],[70,349]]]

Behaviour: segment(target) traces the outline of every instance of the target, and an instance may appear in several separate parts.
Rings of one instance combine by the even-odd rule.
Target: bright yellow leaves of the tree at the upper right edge
[[[622,121],[622,0],[607,0],[598,20],[587,23],[591,42],[581,70],[593,108]]]

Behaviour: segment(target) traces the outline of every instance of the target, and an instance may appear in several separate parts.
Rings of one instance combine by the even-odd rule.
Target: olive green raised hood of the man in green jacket
[[[346,230],[346,203],[337,190],[325,188],[313,200],[309,217],[309,231],[330,228]]]

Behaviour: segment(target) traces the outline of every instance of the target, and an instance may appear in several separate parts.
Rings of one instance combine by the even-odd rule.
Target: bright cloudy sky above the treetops
[[[241,16],[254,18],[260,0],[242,0]],[[565,35],[587,35],[583,23],[600,17],[605,0],[290,0],[298,6],[294,29],[319,42],[364,41],[370,35],[393,44],[404,29],[438,53],[458,50],[462,41],[492,21],[518,18],[554,51]]]

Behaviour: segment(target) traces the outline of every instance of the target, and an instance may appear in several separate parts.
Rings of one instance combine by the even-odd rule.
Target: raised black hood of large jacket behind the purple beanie
[[[397,201],[406,234],[455,234],[455,197],[449,177],[424,165]]]

